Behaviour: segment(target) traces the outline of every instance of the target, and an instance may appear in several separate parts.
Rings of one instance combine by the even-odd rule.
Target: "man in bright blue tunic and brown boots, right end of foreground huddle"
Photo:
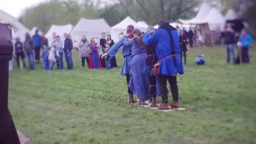
[[[167,21],[162,20],[158,25],[159,29],[155,30],[152,35],[144,35],[142,39],[146,45],[156,43],[156,53],[160,61],[157,80],[160,87],[160,96],[162,97],[162,103],[158,106],[158,109],[169,109],[168,91],[166,91],[167,80],[171,86],[173,97],[171,107],[178,108],[179,93],[176,75],[177,73],[184,73],[180,57],[179,35],[178,31]]]

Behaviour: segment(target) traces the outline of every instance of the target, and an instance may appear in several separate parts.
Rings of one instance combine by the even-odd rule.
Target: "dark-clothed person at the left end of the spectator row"
[[[17,66],[18,68],[20,67],[19,65],[19,57],[21,57],[22,63],[23,63],[23,67],[26,67],[25,65],[25,53],[24,53],[24,49],[23,49],[23,45],[20,41],[19,38],[16,39],[16,43],[15,43],[15,55],[16,55],[16,59],[17,59]]]

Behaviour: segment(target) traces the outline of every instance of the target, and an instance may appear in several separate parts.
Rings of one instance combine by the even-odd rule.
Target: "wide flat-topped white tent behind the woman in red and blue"
[[[101,33],[110,33],[110,27],[104,19],[80,19],[71,32],[72,37],[82,39],[86,35],[87,39],[91,37],[101,37]],[[97,38],[96,38],[97,39]]]

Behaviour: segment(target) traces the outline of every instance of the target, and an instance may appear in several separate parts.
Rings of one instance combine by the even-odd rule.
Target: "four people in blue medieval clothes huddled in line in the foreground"
[[[139,100],[136,104],[143,105],[150,100],[150,107],[169,109],[167,80],[171,86],[173,108],[179,107],[179,93],[176,75],[183,74],[179,34],[167,21],[159,22],[159,29],[152,26],[142,35],[139,29],[128,25],[125,36],[115,43],[107,53],[101,56],[113,57],[123,46],[124,62],[120,75],[126,76],[128,85],[128,103],[134,103],[133,94]],[[153,72],[155,71],[155,72]],[[156,97],[161,96],[162,102],[157,106]]]

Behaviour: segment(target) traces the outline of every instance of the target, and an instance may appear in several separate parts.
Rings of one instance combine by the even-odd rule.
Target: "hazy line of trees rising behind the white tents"
[[[26,8],[20,21],[29,29],[38,27],[42,32],[47,32],[52,24],[71,23],[75,26],[82,17],[104,18],[109,26],[113,26],[131,16],[136,21],[144,20],[155,25],[161,19],[192,18],[204,1],[223,13],[234,8],[255,28],[255,19],[250,19],[255,11],[254,0],[50,0]]]

